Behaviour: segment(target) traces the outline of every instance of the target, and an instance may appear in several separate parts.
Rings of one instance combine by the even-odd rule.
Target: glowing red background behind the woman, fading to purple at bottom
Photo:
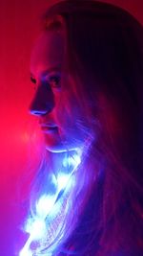
[[[18,228],[22,209],[18,202],[18,180],[28,156],[31,123],[29,62],[39,17],[52,0],[0,1],[0,254],[17,255]],[[142,0],[109,0],[133,13],[143,24]]]

